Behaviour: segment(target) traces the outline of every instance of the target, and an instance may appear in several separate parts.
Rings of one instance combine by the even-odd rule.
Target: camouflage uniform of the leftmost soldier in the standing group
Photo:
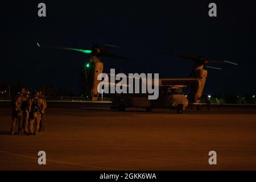
[[[18,123],[19,134],[22,133],[22,93],[18,94],[12,102],[12,111],[11,111],[11,135],[15,134],[16,124]]]

